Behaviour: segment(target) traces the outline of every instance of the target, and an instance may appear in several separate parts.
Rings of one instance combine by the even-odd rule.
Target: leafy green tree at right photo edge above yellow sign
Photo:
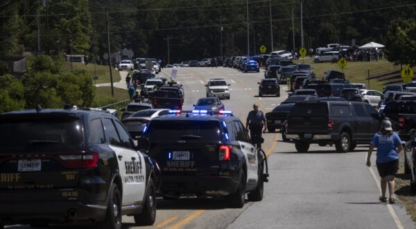
[[[388,26],[385,37],[388,50],[387,59],[395,65],[416,65],[416,21],[415,19],[395,19]]]

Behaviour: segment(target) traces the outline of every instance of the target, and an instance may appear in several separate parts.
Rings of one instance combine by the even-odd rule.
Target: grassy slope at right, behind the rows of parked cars
[[[301,60],[293,61],[295,63],[303,62]],[[336,70],[342,71],[337,64],[331,64],[331,62],[322,62],[322,63],[314,63],[313,58],[304,59],[305,63],[309,63],[311,67],[313,67],[313,72],[315,72],[317,78],[322,78],[324,76],[324,72],[328,70]],[[370,88],[371,90],[383,90],[383,82],[380,82],[377,79],[370,80],[370,87],[368,85],[368,70],[370,70],[370,77],[382,74],[388,71],[398,71],[400,66],[395,66],[391,62],[387,60],[379,60],[379,61],[372,61],[372,62],[348,62],[347,68],[344,69],[345,78],[349,80],[351,83],[365,83],[367,85],[367,89]]]

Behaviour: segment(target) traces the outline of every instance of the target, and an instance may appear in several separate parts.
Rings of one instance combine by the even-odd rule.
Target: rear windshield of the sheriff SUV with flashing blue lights
[[[146,137],[152,140],[222,139],[218,121],[153,120]]]

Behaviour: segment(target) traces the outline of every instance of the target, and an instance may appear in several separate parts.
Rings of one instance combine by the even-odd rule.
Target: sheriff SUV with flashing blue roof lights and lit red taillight
[[[171,111],[152,119],[138,142],[160,167],[165,199],[225,197],[230,207],[243,207],[246,193],[249,201],[263,198],[266,155],[231,112]]]

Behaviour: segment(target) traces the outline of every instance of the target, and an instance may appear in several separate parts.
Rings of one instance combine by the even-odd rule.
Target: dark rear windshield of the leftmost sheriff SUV
[[[78,117],[0,119],[0,130],[0,153],[83,150],[83,128]]]

